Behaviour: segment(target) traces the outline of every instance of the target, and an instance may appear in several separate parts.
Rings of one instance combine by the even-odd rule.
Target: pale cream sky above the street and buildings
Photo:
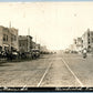
[[[63,50],[87,28],[93,31],[93,1],[0,2],[0,25],[10,22],[19,35],[30,34],[50,50]]]

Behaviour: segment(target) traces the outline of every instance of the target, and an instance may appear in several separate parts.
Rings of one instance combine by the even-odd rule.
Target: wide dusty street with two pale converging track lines
[[[2,63],[0,86],[93,86],[93,56],[59,53]]]

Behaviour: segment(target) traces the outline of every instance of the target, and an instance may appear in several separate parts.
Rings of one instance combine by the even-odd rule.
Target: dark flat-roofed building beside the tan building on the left
[[[31,52],[32,49],[32,37],[31,35],[19,35],[19,51]]]

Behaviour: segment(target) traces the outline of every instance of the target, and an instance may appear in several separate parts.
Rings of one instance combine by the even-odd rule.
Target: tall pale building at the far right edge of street
[[[82,35],[82,40],[83,49],[87,49],[87,51],[91,51],[91,49],[93,49],[93,31],[90,31],[90,29],[87,29],[87,31],[84,32],[84,34]]]

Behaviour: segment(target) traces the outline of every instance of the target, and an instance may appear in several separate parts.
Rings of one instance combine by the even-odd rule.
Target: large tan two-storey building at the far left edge
[[[0,51],[18,51],[18,30],[0,25]]]

